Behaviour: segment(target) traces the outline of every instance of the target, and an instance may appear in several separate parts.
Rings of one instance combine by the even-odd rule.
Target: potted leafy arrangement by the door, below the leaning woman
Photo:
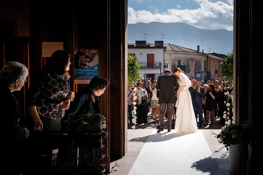
[[[106,128],[106,117],[102,114],[90,114],[87,113],[82,121],[83,125],[87,125],[88,131],[101,131]],[[103,123],[103,124],[102,124]]]

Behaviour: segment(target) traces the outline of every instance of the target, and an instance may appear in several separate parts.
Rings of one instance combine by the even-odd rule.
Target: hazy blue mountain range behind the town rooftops
[[[200,52],[202,52],[203,45],[204,53],[227,54],[233,50],[233,31],[200,29],[184,22],[128,24],[128,43],[135,43],[138,40],[146,40],[146,43],[163,40],[164,43],[193,50],[197,50],[199,45]]]

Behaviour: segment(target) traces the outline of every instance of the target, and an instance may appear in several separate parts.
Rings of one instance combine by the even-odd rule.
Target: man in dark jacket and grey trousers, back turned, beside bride
[[[175,89],[174,89],[175,87]],[[164,114],[167,105],[167,125],[168,132],[171,132],[173,109],[175,104],[175,90],[177,91],[179,85],[175,75],[171,75],[169,70],[164,71],[164,75],[158,77],[156,89],[160,89],[159,104],[160,104],[160,129],[157,132],[163,131],[164,128]]]

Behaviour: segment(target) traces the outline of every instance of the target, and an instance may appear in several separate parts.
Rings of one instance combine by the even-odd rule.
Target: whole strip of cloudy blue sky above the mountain
[[[233,30],[233,0],[128,0],[128,23],[154,21]]]

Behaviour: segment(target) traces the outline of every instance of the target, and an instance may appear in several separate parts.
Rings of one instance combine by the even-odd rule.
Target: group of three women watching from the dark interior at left
[[[92,54],[92,51],[91,51]],[[92,56],[91,56],[92,57]],[[103,94],[109,82],[103,77],[94,77],[89,88],[74,94],[70,91],[70,55],[64,50],[55,51],[50,62],[37,74],[37,81],[30,83],[25,101],[28,115],[32,120],[26,126],[20,126],[20,105],[12,92],[19,91],[27,81],[28,69],[19,62],[8,62],[0,71],[0,89],[5,103],[0,110],[3,115],[6,148],[18,148],[21,140],[30,135],[67,135],[67,131],[85,130],[82,125],[86,113],[100,113],[99,96]],[[74,98],[75,97],[75,98]],[[23,116],[24,118],[24,116]],[[37,132],[38,131],[38,132]],[[28,139],[27,139],[28,140]],[[41,143],[34,143],[41,144]],[[52,144],[52,142],[51,142]],[[19,151],[21,152],[21,151]],[[23,152],[23,151],[22,151]],[[10,154],[14,166],[21,164],[21,157],[14,151]],[[56,154],[53,154],[56,158]],[[18,162],[15,163],[15,160]]]

